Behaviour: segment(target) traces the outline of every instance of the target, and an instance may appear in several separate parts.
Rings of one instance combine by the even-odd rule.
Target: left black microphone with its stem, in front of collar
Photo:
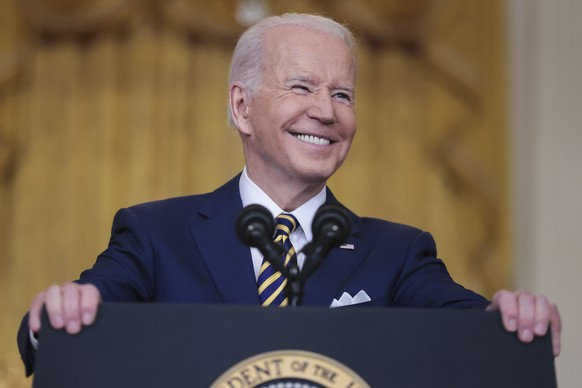
[[[277,271],[287,272],[281,260],[284,250],[273,241],[273,215],[265,207],[256,204],[245,207],[236,220],[236,232],[243,243],[258,248]]]

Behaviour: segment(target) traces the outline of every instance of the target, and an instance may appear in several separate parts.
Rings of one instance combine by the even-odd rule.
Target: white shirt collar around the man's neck
[[[251,180],[247,174],[246,167],[243,169],[239,180],[239,190],[243,206],[251,204],[262,205],[271,212],[273,217],[284,212],[271,197]],[[313,239],[313,233],[311,231],[313,217],[317,209],[325,203],[326,197],[327,192],[324,187],[319,193],[291,212],[297,218],[297,221],[299,221],[299,225],[301,225],[307,241]]]

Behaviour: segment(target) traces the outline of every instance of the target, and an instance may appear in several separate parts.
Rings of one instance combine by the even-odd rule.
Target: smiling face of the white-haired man
[[[265,72],[241,129],[249,175],[260,186],[322,184],[345,160],[356,132],[355,69],[340,38],[274,28]]]

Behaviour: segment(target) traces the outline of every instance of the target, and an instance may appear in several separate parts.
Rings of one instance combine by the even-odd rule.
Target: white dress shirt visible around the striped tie
[[[300,251],[305,244],[313,238],[311,223],[313,222],[313,217],[315,216],[317,209],[325,203],[325,187],[318,194],[292,212],[285,212],[275,203],[275,201],[261,190],[261,188],[257,186],[251,178],[249,178],[246,167],[244,168],[239,180],[239,189],[243,206],[258,204],[266,207],[273,217],[277,217],[281,213],[291,213],[295,218],[297,218],[297,221],[299,221],[299,227],[291,233],[289,238],[291,239],[291,244],[293,244],[295,250],[299,252],[297,254],[297,265],[299,266],[299,269],[301,269],[305,262],[305,255]],[[261,264],[263,264],[263,255],[257,248],[250,249],[253,259],[253,268],[255,269],[255,278],[258,279],[259,269],[261,268]]]

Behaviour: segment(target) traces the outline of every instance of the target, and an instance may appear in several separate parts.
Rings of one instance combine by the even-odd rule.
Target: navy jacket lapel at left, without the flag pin
[[[208,195],[201,220],[191,225],[202,259],[225,303],[257,304],[257,283],[249,247],[236,236],[242,210],[239,176]]]

